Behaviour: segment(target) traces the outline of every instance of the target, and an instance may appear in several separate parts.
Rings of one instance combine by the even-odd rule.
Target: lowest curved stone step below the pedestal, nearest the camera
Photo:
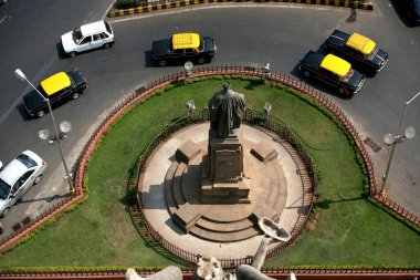
[[[234,242],[249,239],[251,237],[261,235],[261,231],[256,227],[248,228],[245,230],[237,232],[212,232],[202,228],[192,227],[189,231],[191,235],[197,236],[201,239],[213,241],[213,242]]]

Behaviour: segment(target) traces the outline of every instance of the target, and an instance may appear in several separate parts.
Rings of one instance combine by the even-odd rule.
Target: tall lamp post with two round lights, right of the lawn
[[[385,191],[385,185],[386,185],[387,179],[388,179],[389,168],[391,167],[393,152],[396,151],[397,144],[401,143],[401,141],[405,139],[405,138],[411,139],[412,137],[416,136],[416,129],[414,129],[413,126],[407,127],[406,131],[405,131],[405,135],[403,136],[401,136],[400,134],[401,134],[402,123],[403,123],[403,121],[406,118],[407,107],[419,95],[420,95],[420,92],[417,93],[411,100],[406,101],[406,106],[405,106],[405,110],[403,110],[403,113],[402,113],[402,116],[401,116],[401,121],[400,121],[400,125],[398,127],[397,135],[391,134],[391,133],[388,133],[388,134],[384,135],[384,142],[387,145],[392,145],[392,148],[391,148],[391,154],[390,154],[389,159],[388,159],[387,169],[386,169],[386,172],[385,172],[385,174],[382,176],[382,187],[381,187],[380,193],[379,193],[379,197],[380,198],[385,198],[387,196],[386,191]]]

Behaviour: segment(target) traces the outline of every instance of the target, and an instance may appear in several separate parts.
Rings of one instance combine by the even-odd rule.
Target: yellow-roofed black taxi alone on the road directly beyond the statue
[[[151,46],[151,60],[159,66],[186,61],[202,64],[210,62],[216,53],[214,39],[197,33],[177,33],[170,39],[154,41]]]

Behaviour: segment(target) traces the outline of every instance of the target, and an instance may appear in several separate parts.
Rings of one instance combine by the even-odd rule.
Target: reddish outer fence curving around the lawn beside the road
[[[229,75],[229,74],[241,74],[241,75],[250,75],[250,76],[262,76],[262,71],[260,68],[255,66],[249,66],[249,65],[207,65],[201,68],[196,68],[192,70],[192,73],[190,75],[191,79],[200,77],[200,76],[211,76],[211,75]],[[97,142],[101,139],[101,137],[104,135],[104,133],[114,124],[114,122],[132,105],[137,103],[139,100],[146,97],[147,95],[151,94],[156,90],[162,89],[166,85],[170,83],[176,82],[183,82],[186,79],[186,72],[180,71],[176,73],[171,73],[168,75],[165,75],[158,80],[155,80],[154,82],[149,83],[146,86],[143,86],[138,90],[136,90],[134,93],[128,94],[122,102],[116,104],[116,106],[111,110],[111,112],[107,114],[107,116],[101,122],[101,124],[97,126],[95,132],[92,134],[91,138],[86,143],[86,145],[83,148],[83,152],[81,153],[78,159],[76,160],[74,165],[74,185],[76,188],[76,196],[64,198],[57,203],[57,205],[52,206],[48,210],[45,210],[42,215],[33,219],[33,221],[30,221],[25,225],[22,225],[17,231],[14,231],[11,235],[8,235],[7,237],[3,237],[0,241],[0,251],[3,251],[8,246],[19,241],[21,238],[30,234],[33,229],[38,228],[43,222],[48,221],[52,216],[56,215],[59,211],[64,209],[71,204],[74,204],[78,199],[81,199],[84,196],[83,191],[83,176],[84,170],[86,167],[87,159],[90,158],[91,154],[96,147]],[[353,139],[355,141],[358,149],[360,151],[360,154],[363,156],[363,159],[365,162],[367,173],[368,173],[368,179],[369,179],[369,194],[375,199],[377,199],[379,203],[382,203],[386,207],[389,207],[392,209],[396,214],[400,215],[408,221],[412,222],[417,227],[420,227],[420,218],[417,216],[408,212],[403,207],[399,206],[398,204],[393,203],[392,200],[388,198],[379,198],[377,195],[376,189],[376,177],[375,177],[375,169],[374,164],[369,157],[368,152],[366,151],[366,147],[356,132],[355,127],[350,123],[350,121],[347,118],[347,116],[344,114],[344,112],[337,107],[333,101],[330,101],[328,97],[326,97],[324,94],[319,93],[318,91],[309,87],[305,83],[302,83],[291,76],[279,74],[279,73],[272,73],[269,77],[269,81],[271,82],[279,82],[286,86],[290,86],[292,89],[295,89],[297,91],[301,91],[308,96],[313,97],[317,102],[322,103],[325,107],[327,107],[339,121],[340,124],[344,125],[344,127],[349,132]],[[145,155],[146,156],[146,155]],[[282,250],[279,248],[279,250]],[[191,259],[192,260],[192,259]]]

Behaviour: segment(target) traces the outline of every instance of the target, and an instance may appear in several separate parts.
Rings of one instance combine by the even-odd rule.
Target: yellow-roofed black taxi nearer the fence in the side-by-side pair
[[[300,70],[304,76],[313,76],[334,86],[347,97],[357,93],[365,83],[361,73],[354,70],[350,63],[334,54],[325,55],[309,51],[301,61]]]

